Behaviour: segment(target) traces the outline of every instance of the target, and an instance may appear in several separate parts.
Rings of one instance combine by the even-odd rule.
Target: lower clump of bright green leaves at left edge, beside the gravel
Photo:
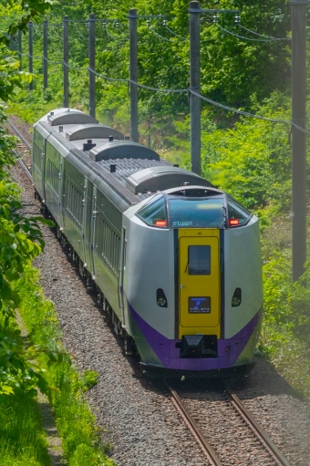
[[[20,215],[20,207],[20,202],[7,199],[5,183],[0,183],[0,395],[16,390],[35,395],[36,387],[50,395],[44,371],[29,362],[43,349],[25,348],[15,324],[15,308],[20,302],[15,282],[23,279],[26,264],[44,248],[39,223],[51,223],[42,217]]]

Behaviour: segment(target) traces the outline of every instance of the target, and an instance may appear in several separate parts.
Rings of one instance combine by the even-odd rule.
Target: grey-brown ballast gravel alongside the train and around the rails
[[[38,203],[32,201],[31,183],[19,167],[12,173],[24,188],[24,211],[38,212]],[[116,336],[109,315],[96,305],[96,295],[88,293],[84,279],[46,227],[44,235],[46,251],[35,265],[45,295],[55,304],[63,342],[75,355],[75,364],[81,372],[98,372],[98,385],[86,396],[98,426],[104,429],[102,442],[109,445],[109,456],[119,466],[209,465],[171,403],[165,384],[145,378],[137,361],[125,356],[123,342]],[[195,384],[195,380],[191,381],[191,399]],[[200,391],[207,392],[209,385],[208,380],[200,382]],[[231,385],[290,465],[310,465],[310,409],[284,378],[268,362],[257,359],[246,381],[242,385],[232,381]],[[197,400],[200,397],[197,394]],[[208,417],[208,412],[204,415]],[[212,430],[213,437],[222,442],[219,450],[225,450],[229,458],[221,423],[217,426],[214,422]],[[243,450],[249,448],[246,440],[238,440],[236,449],[239,444]],[[266,461],[265,453],[262,462],[257,461],[249,450],[246,461],[226,464],[260,466]]]

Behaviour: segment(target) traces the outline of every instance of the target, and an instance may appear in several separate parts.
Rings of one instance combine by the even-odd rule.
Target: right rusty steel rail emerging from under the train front
[[[242,415],[243,419],[246,420],[248,424],[250,424],[251,428],[255,431],[258,439],[263,443],[263,446],[268,450],[269,454],[273,457],[274,461],[276,461],[280,466],[290,466],[290,464],[285,460],[281,451],[277,449],[274,445],[274,442],[268,437],[265,431],[261,428],[261,426],[256,422],[253,418],[251,412],[245,408],[241,399],[234,393],[233,389],[229,387],[229,385],[224,382],[224,386],[229,394],[233,407],[237,409],[237,411]]]

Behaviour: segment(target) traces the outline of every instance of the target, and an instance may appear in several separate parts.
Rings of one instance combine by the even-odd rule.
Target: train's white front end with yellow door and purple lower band
[[[124,325],[145,367],[251,362],[263,305],[251,212],[214,188],[160,192],[124,213],[123,256]]]

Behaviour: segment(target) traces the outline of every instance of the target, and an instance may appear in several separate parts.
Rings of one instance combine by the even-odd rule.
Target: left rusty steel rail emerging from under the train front
[[[222,466],[222,462],[218,459],[216,456],[214,450],[212,449],[212,446],[210,443],[208,443],[207,440],[202,435],[202,431],[199,429],[196,421],[191,417],[190,412],[184,404],[181,401],[181,398],[179,397],[178,393],[176,392],[175,389],[171,388],[169,383],[166,381],[168,388],[171,391],[171,396],[172,396],[172,401],[178,411],[181,414],[181,417],[185,420],[186,425],[190,428],[191,433],[195,437],[195,439],[198,441],[203,453],[205,456],[208,458],[208,460],[212,463],[212,466]]]

